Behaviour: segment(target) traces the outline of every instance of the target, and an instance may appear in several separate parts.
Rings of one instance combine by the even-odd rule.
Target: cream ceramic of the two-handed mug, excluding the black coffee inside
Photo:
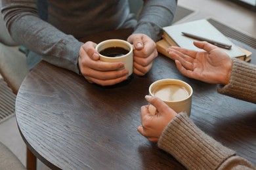
[[[112,63],[121,61],[125,65],[125,69],[129,71],[128,76],[130,76],[133,73],[133,46],[129,42],[121,39],[109,39],[97,44],[95,49],[100,53],[102,50],[112,47],[124,48],[128,53],[117,57],[103,56],[100,54],[100,61]]]

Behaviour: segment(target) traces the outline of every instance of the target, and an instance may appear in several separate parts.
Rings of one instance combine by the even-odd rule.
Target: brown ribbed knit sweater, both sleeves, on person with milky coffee
[[[230,83],[218,89],[224,95],[256,103],[256,66],[233,59]],[[256,169],[234,150],[201,131],[184,113],[163,131],[158,146],[188,169]]]

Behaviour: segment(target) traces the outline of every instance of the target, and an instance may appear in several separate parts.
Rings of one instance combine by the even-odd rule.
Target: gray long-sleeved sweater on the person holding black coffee
[[[49,63],[79,73],[77,58],[87,35],[135,27],[154,41],[161,28],[171,24],[176,0],[144,0],[138,22],[130,14],[128,0],[2,0],[7,29],[12,39]]]

